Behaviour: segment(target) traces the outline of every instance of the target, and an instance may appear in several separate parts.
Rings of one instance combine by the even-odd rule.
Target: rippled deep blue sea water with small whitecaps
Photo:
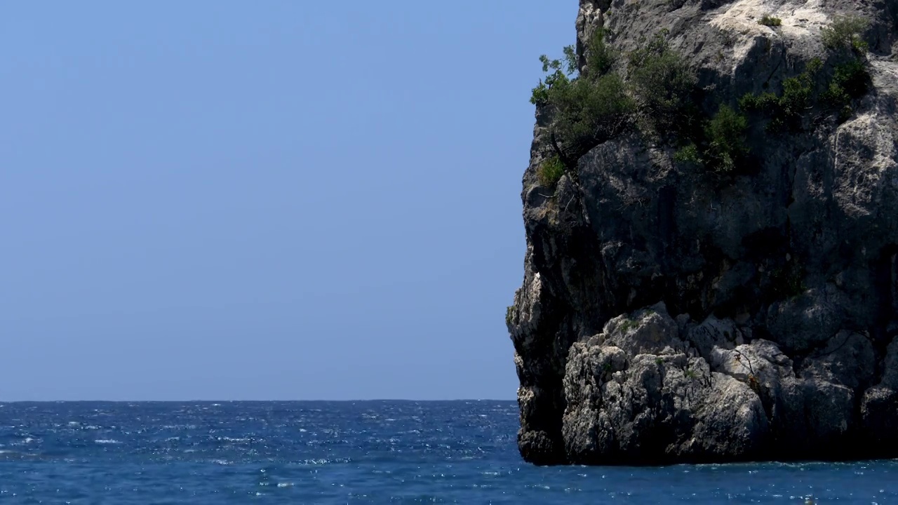
[[[0,504],[898,502],[898,462],[535,467],[514,402],[0,403]]]

